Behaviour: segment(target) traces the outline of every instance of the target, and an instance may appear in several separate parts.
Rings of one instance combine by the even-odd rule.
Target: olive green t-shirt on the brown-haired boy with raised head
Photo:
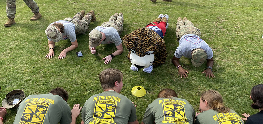
[[[86,100],[81,116],[85,124],[127,124],[137,119],[131,100],[115,91],[91,96]]]

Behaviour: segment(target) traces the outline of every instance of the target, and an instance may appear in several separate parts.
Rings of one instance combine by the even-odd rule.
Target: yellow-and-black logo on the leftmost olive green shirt
[[[28,102],[19,124],[42,124],[49,105],[46,102]]]

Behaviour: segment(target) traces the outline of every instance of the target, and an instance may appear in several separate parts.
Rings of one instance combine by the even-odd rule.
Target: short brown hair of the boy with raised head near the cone
[[[121,82],[123,73],[118,69],[108,68],[100,73],[101,87],[105,91],[110,88],[114,88],[115,82]]]

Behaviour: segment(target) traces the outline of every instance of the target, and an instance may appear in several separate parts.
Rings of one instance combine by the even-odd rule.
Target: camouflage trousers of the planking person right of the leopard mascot
[[[201,36],[201,32],[198,28],[196,28],[193,23],[187,18],[183,18],[183,20],[178,18],[176,23],[176,40],[180,41],[183,35],[185,34],[194,34],[197,36]]]

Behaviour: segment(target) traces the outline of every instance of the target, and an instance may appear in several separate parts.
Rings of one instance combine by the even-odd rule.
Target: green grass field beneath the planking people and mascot
[[[6,1],[0,2],[0,100],[14,89],[22,89],[25,94],[44,94],[55,87],[63,87],[69,92],[68,104],[81,106],[92,95],[103,92],[99,73],[106,68],[116,68],[123,72],[121,94],[138,106],[137,117],[142,121],[147,105],[157,98],[163,88],[175,90],[179,98],[184,98],[198,111],[200,95],[214,89],[224,98],[226,106],[239,115],[244,112],[255,114],[258,110],[250,107],[249,93],[253,86],[263,82],[263,1],[256,0],[173,0],[156,3],[150,0],[36,0],[42,18],[30,21],[33,13],[22,0],[16,1],[16,24],[4,27]],[[47,26],[57,20],[73,17],[82,9],[95,11],[97,20],[91,22],[86,34],[78,35],[79,47],[67,53],[63,60],[59,53],[71,45],[69,40],[56,43],[55,56],[46,59],[48,42],[45,35]],[[110,64],[101,60],[116,50],[114,44],[100,45],[97,54],[90,53],[88,34],[115,12],[123,13],[124,24],[121,38],[133,30],[144,27],[158,17],[169,15],[169,28],[164,37],[167,59],[162,66],[153,68],[152,73],[131,71],[131,63],[125,57],[128,50],[113,58]],[[178,17],[187,17],[202,33],[201,38],[213,49],[215,60],[214,79],[201,74],[206,63],[199,68],[191,64],[191,59],[182,57],[179,61],[188,70],[188,78],[179,78],[178,70],[171,59],[179,43],[176,42],[176,22]],[[78,58],[76,52],[83,57]],[[143,86],[144,97],[131,94],[134,86]],[[1,105],[2,106],[2,105]],[[16,108],[8,109],[4,123],[12,124]],[[242,116],[243,117],[243,116]],[[77,123],[81,122],[81,115]]]

